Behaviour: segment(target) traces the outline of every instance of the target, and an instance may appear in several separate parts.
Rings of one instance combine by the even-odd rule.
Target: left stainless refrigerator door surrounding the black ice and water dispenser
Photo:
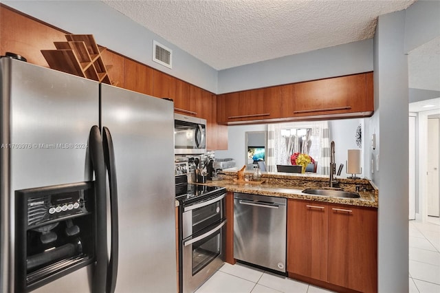
[[[0,291],[13,292],[14,191],[91,180],[85,163],[89,131],[98,124],[99,87],[85,78],[11,58],[0,59],[0,70]],[[87,270],[50,285],[57,292],[88,292]]]

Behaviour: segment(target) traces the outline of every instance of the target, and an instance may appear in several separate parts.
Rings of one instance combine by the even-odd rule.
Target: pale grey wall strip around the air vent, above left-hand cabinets
[[[113,10],[102,1],[1,2],[72,34],[93,34],[99,45],[192,85],[213,93],[217,92],[217,70]],[[152,61],[153,39],[173,50],[173,69]]]

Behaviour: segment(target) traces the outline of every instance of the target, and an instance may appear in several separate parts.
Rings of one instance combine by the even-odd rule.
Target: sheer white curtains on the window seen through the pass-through
[[[318,162],[317,173],[328,175],[330,164],[329,125],[327,121],[316,122],[287,122],[269,124],[267,127],[267,171],[276,172],[276,165],[289,165],[290,155],[300,149],[292,138],[281,135],[282,129],[311,129],[309,135],[311,144],[303,146],[303,150]]]

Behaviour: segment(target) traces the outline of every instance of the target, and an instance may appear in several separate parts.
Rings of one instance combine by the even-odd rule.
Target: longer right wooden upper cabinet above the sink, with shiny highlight
[[[347,113],[371,116],[372,76],[373,73],[353,74],[292,84],[283,93],[283,118]]]

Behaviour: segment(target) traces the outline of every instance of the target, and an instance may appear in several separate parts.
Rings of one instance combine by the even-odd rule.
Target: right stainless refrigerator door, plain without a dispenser
[[[173,102],[100,86],[118,177],[115,292],[177,292]]]

